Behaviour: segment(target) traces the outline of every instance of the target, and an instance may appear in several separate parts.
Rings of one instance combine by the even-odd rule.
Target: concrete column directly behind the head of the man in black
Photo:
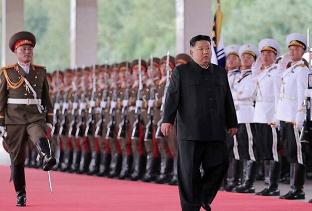
[[[211,35],[211,0],[176,0],[177,54],[188,53],[192,37]]]

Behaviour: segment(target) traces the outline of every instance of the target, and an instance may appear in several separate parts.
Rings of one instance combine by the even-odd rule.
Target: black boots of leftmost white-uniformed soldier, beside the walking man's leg
[[[235,158],[230,158],[227,170],[226,185],[224,190],[231,192],[233,188],[241,185],[243,163]]]

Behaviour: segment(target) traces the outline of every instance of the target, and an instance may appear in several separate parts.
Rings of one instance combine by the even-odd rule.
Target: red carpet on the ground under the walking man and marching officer
[[[10,168],[0,166],[0,210],[181,210],[178,187],[26,168],[27,206],[16,207]],[[201,209],[202,210],[202,209]],[[212,210],[312,210],[312,204],[219,192]]]

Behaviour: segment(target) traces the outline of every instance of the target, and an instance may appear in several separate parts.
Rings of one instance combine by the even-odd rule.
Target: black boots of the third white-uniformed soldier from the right
[[[243,181],[242,185],[232,189],[232,192],[254,193],[255,177],[257,173],[257,163],[252,160],[244,160]]]

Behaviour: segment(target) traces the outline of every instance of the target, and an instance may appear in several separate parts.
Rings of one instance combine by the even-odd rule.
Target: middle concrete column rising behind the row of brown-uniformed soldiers
[[[70,67],[97,63],[97,0],[70,0]]]

